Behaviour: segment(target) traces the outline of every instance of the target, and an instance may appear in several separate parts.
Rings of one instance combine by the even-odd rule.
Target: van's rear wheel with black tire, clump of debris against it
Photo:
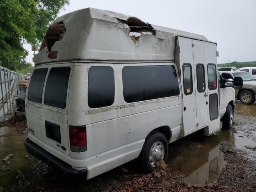
[[[156,150],[153,150],[153,147]],[[156,162],[156,158],[154,158],[153,156],[157,156],[157,159],[162,158],[164,162],[166,162],[168,156],[167,139],[164,134],[157,131],[152,131],[146,137],[146,140],[138,157],[138,163],[142,172],[150,173],[154,170],[154,162]]]

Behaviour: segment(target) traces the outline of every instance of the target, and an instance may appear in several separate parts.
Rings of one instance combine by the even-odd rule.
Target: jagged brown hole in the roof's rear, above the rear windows
[[[64,26],[64,22],[55,22],[48,27],[46,34],[44,36],[44,40],[40,47],[41,51],[43,48],[47,47],[48,51],[52,50],[52,46],[56,41],[62,40],[64,34],[66,32],[66,27]]]

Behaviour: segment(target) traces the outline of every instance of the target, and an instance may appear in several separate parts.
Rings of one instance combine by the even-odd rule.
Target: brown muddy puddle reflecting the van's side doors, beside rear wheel
[[[172,173],[185,175],[184,182],[189,186],[216,183],[218,172],[226,165],[220,150],[222,140],[232,141],[234,135],[230,131],[210,137],[192,134],[170,144],[167,163],[172,167]]]

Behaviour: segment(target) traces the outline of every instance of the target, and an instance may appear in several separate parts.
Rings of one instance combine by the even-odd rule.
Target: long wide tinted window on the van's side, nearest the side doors
[[[125,66],[124,100],[128,103],[180,94],[178,77],[172,65]]]

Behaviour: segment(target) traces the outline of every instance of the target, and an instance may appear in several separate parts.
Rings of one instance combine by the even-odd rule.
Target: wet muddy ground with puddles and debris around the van
[[[0,192],[256,191],[256,106],[238,104],[233,124],[210,137],[198,132],[170,144],[164,170],[141,174],[134,162],[85,181],[28,155],[22,146],[26,120],[13,117],[0,123],[0,160],[14,154],[10,164],[0,162],[10,167],[0,170]]]

